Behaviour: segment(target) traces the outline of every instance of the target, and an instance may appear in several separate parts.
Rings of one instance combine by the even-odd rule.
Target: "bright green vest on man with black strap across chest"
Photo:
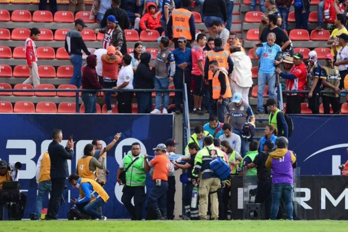
[[[133,155],[128,153],[123,158],[124,169],[126,169],[133,161]],[[139,155],[137,161],[126,172],[126,185],[127,186],[145,186],[146,174],[143,168],[144,157]]]

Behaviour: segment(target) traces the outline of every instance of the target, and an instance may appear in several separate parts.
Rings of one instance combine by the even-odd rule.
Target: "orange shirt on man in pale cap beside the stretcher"
[[[171,161],[169,161],[168,155],[157,155],[150,161],[150,165],[153,166],[152,179],[161,179],[162,181],[168,181],[169,168],[171,167]]]

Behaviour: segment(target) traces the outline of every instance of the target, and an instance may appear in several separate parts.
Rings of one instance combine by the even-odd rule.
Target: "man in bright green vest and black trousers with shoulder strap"
[[[149,165],[144,165],[145,162],[148,162],[147,158],[145,155],[141,155],[140,153],[140,144],[137,142],[133,143],[131,153],[128,153],[123,158],[123,162],[120,163],[117,171],[117,182],[121,185],[122,182],[120,180],[120,174],[124,169],[128,168],[126,171],[126,185],[122,190],[123,194],[121,201],[128,210],[129,214],[132,216],[132,220],[142,220],[143,218],[143,205],[146,199],[145,173],[149,172],[150,170]],[[134,206],[132,204],[133,197]]]

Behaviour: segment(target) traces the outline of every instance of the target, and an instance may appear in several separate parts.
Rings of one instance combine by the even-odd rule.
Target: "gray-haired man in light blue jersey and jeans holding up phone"
[[[277,99],[275,95],[276,91],[276,79],[275,73],[276,66],[274,65],[275,58],[278,53],[282,52],[282,49],[275,44],[276,34],[270,32],[267,35],[267,42],[260,44],[255,43],[253,56],[260,58],[259,73],[258,73],[258,106],[256,107],[256,114],[263,112],[263,92],[268,83],[269,97]],[[256,45],[259,45],[256,46]]]

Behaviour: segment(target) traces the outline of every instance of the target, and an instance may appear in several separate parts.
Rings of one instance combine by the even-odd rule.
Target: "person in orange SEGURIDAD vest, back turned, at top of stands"
[[[192,12],[187,9],[190,6],[191,0],[182,0],[182,7],[174,9],[169,17],[167,23],[168,38],[174,42],[175,48],[179,46],[177,43],[179,37],[187,39],[186,47],[189,48],[191,48],[189,41],[193,42],[196,39],[195,18]]]

